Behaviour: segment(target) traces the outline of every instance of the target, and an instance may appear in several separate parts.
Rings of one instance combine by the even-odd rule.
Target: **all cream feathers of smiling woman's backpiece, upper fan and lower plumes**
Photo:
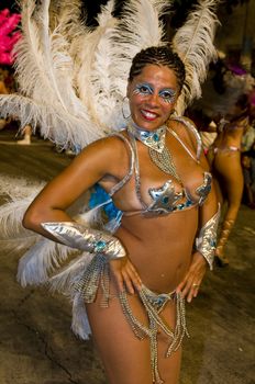
[[[174,38],[175,50],[187,71],[178,103],[180,112],[200,94],[199,82],[214,56],[214,3],[200,1]],[[122,101],[132,58],[142,48],[166,44],[160,18],[170,1],[125,1],[122,18],[115,19],[114,1],[109,0],[101,8],[93,30],[81,21],[81,0],[22,0],[21,5],[22,38],[15,48],[19,93],[0,97],[1,115],[19,118],[21,126],[31,124],[62,147],[82,148],[108,133],[122,129],[126,124],[121,112]],[[8,183],[11,191],[13,183]],[[19,281],[22,285],[49,282],[54,289],[68,294],[74,302],[73,328],[85,338],[88,324],[80,297],[73,289],[91,257],[74,256],[68,247],[43,239],[21,226],[25,210],[41,189],[42,185],[33,187],[30,193],[23,185],[22,195],[9,194],[9,201],[0,208],[3,228],[0,241],[10,247],[15,237],[19,248],[33,246],[21,259]],[[81,199],[71,207],[71,215],[80,223],[97,226],[98,206],[88,211],[88,200],[91,201],[88,196]],[[101,203],[106,204],[108,200]],[[107,223],[104,229],[114,231],[117,221]],[[8,229],[9,223],[13,230]],[[67,266],[59,272],[64,262]]]

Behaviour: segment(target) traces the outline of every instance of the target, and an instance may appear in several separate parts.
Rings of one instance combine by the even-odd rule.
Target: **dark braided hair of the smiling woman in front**
[[[154,46],[142,49],[137,53],[132,60],[129,81],[131,82],[136,76],[138,76],[147,65],[165,66],[174,70],[179,91],[181,91],[185,82],[185,65],[170,47],[166,45]]]

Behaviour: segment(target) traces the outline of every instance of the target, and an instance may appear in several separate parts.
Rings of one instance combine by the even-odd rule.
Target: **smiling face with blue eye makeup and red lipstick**
[[[134,123],[147,131],[164,125],[174,111],[178,92],[174,70],[166,66],[146,65],[127,87]]]

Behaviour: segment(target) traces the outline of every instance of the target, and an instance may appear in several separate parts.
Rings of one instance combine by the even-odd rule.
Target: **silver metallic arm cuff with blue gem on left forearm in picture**
[[[42,223],[42,227],[59,242],[91,253],[101,253],[110,260],[123,258],[125,249],[121,241],[101,230],[85,227],[75,222]]]

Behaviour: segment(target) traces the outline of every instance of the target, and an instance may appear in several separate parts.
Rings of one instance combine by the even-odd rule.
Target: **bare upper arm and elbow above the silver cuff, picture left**
[[[42,223],[70,222],[66,210],[96,182],[107,174],[114,177],[118,173],[115,165],[121,162],[121,154],[122,146],[115,137],[100,139],[86,147],[35,197],[24,215],[23,226],[53,239]]]

